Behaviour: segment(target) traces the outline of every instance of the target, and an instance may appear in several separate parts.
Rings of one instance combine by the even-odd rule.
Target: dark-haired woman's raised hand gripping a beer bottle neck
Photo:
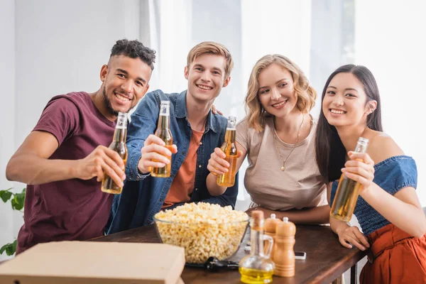
[[[349,158],[342,168],[342,173],[347,178],[361,183],[363,190],[368,190],[373,184],[374,161],[367,153],[356,153],[349,151]]]

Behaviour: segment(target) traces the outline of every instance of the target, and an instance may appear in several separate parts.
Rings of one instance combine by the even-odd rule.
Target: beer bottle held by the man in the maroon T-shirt
[[[123,159],[124,167],[126,167],[127,161],[127,147],[126,147],[126,135],[127,135],[127,116],[124,112],[119,112],[119,117],[116,122],[116,129],[114,131],[114,138],[109,148],[119,153]],[[101,190],[103,192],[112,193],[119,195],[123,187],[116,185],[109,175],[104,174],[104,180],[102,180]]]

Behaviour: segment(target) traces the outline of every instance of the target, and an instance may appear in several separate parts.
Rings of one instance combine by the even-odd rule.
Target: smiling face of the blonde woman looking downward
[[[295,109],[297,94],[290,71],[273,63],[261,71],[258,82],[259,101],[269,114],[283,117]]]

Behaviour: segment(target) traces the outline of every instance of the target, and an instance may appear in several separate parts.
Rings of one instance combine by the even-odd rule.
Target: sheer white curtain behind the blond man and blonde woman
[[[310,69],[310,0],[207,1],[148,0],[150,46],[158,52],[151,80],[152,89],[181,92],[187,88],[183,68],[190,48],[214,40],[231,51],[235,67],[231,84],[215,104],[225,115],[243,119],[244,97],[251,68],[263,55],[281,53]],[[146,13],[142,11],[144,17]],[[283,16],[283,11],[288,11]],[[274,28],[270,28],[273,26]],[[240,170],[238,207],[249,204]]]

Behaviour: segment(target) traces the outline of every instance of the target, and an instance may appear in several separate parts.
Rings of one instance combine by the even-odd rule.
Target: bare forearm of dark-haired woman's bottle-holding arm
[[[403,202],[373,183],[361,197],[389,222],[406,233],[420,237],[426,231],[426,218],[422,209]]]

